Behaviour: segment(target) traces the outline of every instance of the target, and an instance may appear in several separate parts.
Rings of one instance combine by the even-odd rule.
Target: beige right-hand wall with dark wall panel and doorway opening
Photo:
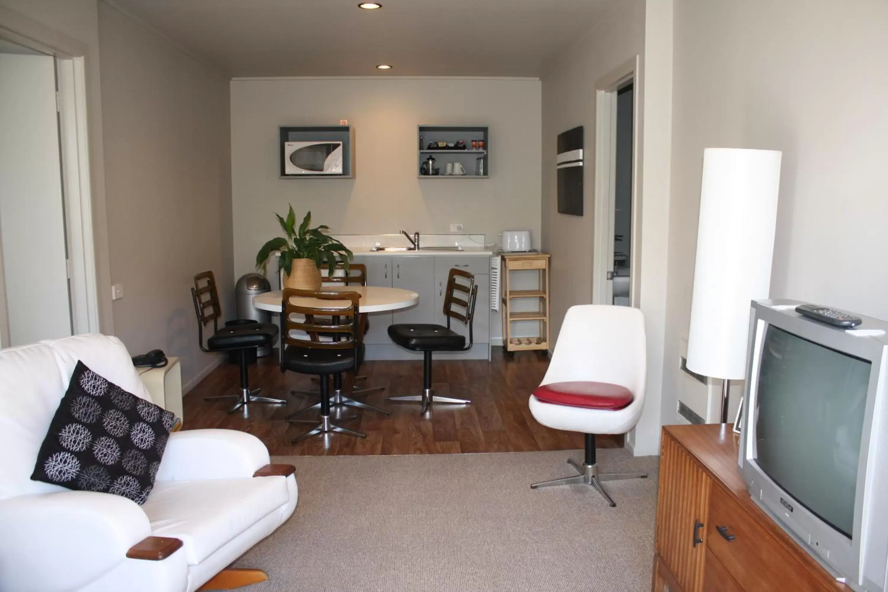
[[[590,35],[554,59],[543,75],[543,249],[551,252],[552,335],[567,308],[592,302],[595,185],[595,84],[638,56],[638,186],[641,203],[640,308],[647,334],[645,410],[627,436],[635,454],[656,454],[660,441],[666,253],[670,211],[671,0],[632,0],[599,20]],[[651,100],[648,100],[651,99]],[[558,134],[583,125],[583,217],[558,213]]]

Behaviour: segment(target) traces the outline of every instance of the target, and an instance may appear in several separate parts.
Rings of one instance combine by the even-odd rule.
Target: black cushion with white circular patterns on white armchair
[[[78,361],[31,478],[145,503],[176,416]]]

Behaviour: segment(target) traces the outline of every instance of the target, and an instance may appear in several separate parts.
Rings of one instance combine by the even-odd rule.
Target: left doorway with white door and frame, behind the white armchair
[[[0,347],[99,330],[83,59],[0,38]]]

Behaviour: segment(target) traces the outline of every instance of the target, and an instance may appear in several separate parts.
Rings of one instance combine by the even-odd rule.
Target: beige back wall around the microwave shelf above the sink
[[[289,203],[335,233],[530,230],[540,241],[540,83],[511,79],[235,80],[234,275],[253,271]],[[353,125],[354,179],[279,179],[279,125]],[[488,179],[417,179],[416,126],[490,126]],[[432,139],[432,138],[429,138]]]

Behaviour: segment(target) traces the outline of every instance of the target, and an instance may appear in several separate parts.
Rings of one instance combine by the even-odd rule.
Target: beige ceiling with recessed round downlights
[[[235,77],[539,76],[620,3],[380,1],[106,0]]]

